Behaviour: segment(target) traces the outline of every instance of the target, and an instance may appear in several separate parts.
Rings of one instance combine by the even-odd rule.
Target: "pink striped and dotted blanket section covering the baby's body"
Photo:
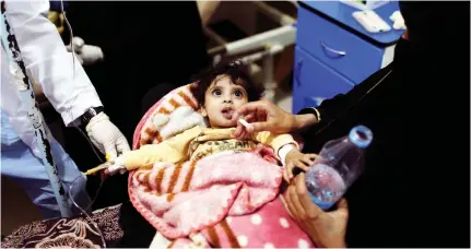
[[[174,247],[313,247],[279,198],[282,168],[266,149],[131,173],[136,209]]]

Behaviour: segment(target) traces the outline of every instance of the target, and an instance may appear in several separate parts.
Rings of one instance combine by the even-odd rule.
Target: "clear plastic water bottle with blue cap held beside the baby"
[[[354,127],[349,135],[327,142],[306,171],[306,186],[311,200],[322,210],[330,209],[363,170],[365,149],[373,132]]]

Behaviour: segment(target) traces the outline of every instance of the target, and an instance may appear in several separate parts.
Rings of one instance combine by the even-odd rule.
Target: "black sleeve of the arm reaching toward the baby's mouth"
[[[355,85],[351,91],[345,94],[338,94],[332,98],[325,99],[320,106],[316,107],[320,116],[320,126],[315,126],[313,129],[322,127],[323,123],[329,123],[333,119],[338,118],[354,106],[360,99],[385,75],[387,75],[392,68],[392,63],[388,67],[375,72],[362,83]],[[303,109],[298,114],[315,114],[314,109]]]

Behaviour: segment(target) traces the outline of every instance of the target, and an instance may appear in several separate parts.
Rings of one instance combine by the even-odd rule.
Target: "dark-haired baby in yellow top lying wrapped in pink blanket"
[[[250,80],[246,66],[239,61],[215,68],[191,86],[199,103],[200,114],[210,128],[195,127],[158,144],[143,145],[110,161],[107,171],[134,170],[156,162],[181,163],[199,159],[223,151],[250,151],[257,143],[271,146],[285,166],[284,179],[294,167],[306,169],[315,154],[303,154],[291,134],[258,132],[239,141],[233,138],[237,121],[234,111],[248,102],[258,100],[262,90]]]

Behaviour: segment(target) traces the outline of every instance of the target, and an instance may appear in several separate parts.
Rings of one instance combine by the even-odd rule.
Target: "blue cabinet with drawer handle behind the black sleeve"
[[[391,26],[391,2],[375,10]],[[349,92],[392,61],[403,31],[369,34],[353,19],[356,9],[339,1],[301,2],[293,82],[293,112]]]

